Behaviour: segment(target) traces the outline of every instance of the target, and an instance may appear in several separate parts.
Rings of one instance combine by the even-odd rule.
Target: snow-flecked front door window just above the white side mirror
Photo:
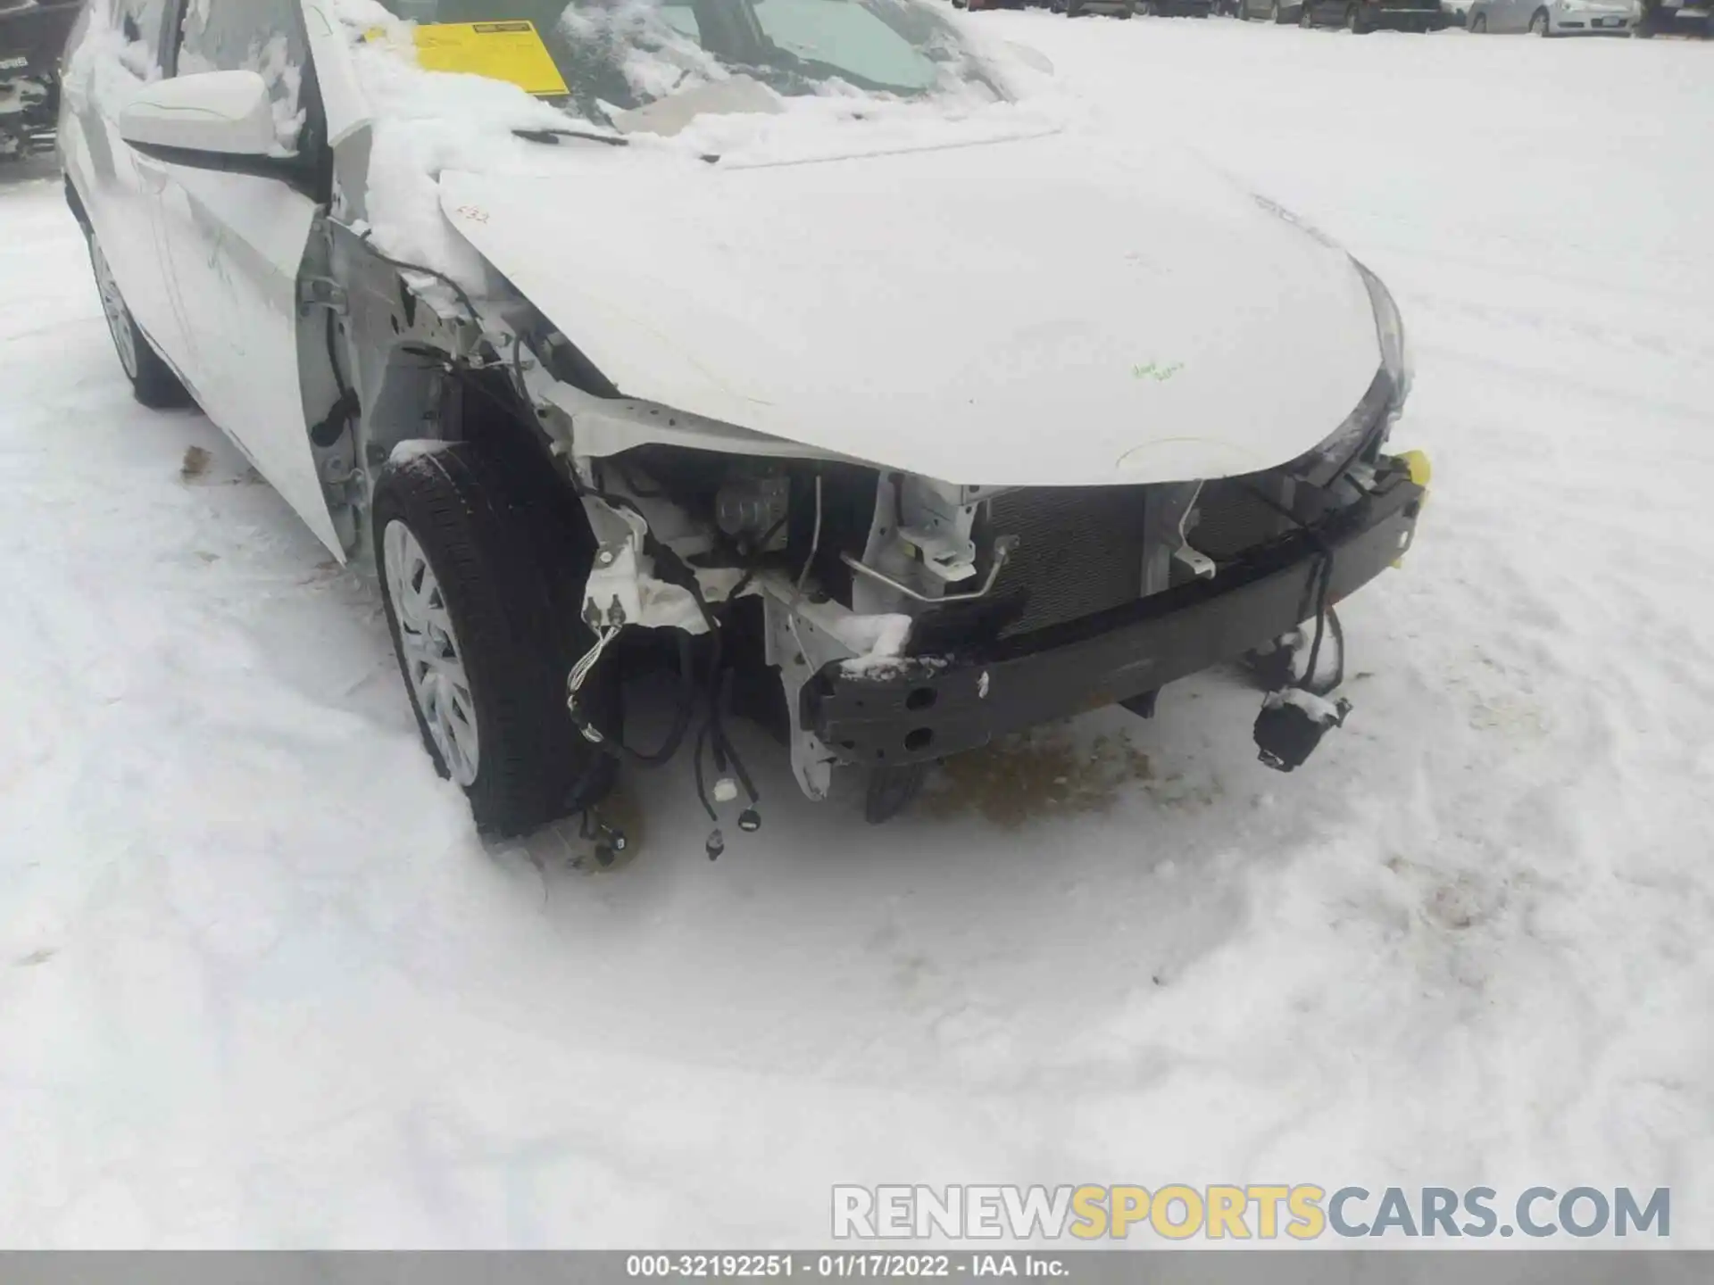
[[[302,151],[309,122],[303,86],[309,48],[295,0],[187,0],[180,38],[178,75],[261,74],[274,105],[281,149]]]

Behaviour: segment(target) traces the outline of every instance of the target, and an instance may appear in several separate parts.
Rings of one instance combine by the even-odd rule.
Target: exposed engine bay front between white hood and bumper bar
[[[1332,488],[1274,469],[1210,483],[1006,490],[643,447],[581,464],[598,531],[584,620],[602,639],[626,625],[704,632],[704,610],[715,617],[730,598],[759,598],[766,663],[785,711],[800,714],[806,685],[831,665],[860,682],[1022,654],[1174,586],[1215,583],[1253,550],[1359,499],[1378,447],[1375,433],[1361,445],[1369,459],[1352,459]],[[1150,690],[1140,678],[1116,697]],[[826,795],[835,766],[900,769],[939,752],[924,728],[905,732],[886,764],[864,762],[854,745],[823,744],[802,716],[783,721],[812,798]]]

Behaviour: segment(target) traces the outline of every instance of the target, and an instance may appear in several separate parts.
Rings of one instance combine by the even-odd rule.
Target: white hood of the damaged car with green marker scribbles
[[[440,194],[624,396],[946,481],[1270,468],[1380,365],[1349,257],[1176,152],[578,147]]]

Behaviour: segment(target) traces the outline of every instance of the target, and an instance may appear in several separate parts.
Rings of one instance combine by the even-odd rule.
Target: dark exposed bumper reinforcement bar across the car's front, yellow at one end
[[[1316,529],[1333,550],[1330,601],[1411,547],[1424,488],[1402,466]],[[1152,692],[1287,634],[1315,613],[1321,555],[1296,531],[1208,581],[972,654],[914,656],[848,672],[823,666],[802,689],[800,726],[836,761],[896,768],[975,749],[1008,732]]]

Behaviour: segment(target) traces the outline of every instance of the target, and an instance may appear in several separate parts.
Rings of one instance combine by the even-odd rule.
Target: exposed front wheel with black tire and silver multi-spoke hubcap
[[[458,442],[387,464],[374,500],[387,632],[423,747],[497,834],[591,807],[617,769],[566,711],[566,675],[593,642],[574,603],[588,548],[524,495],[488,451]],[[584,699],[612,735],[617,696],[605,661]]]

